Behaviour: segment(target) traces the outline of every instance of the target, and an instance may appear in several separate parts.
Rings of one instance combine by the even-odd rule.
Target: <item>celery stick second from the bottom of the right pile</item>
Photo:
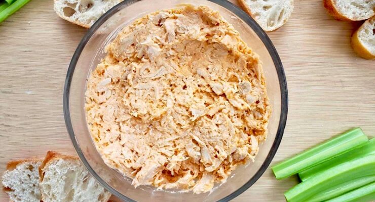
[[[320,202],[320,201],[328,200],[330,198],[340,196],[353,189],[362,187],[371,182],[375,182],[375,175],[361,177],[358,179],[344,182],[343,184],[339,184],[334,187],[330,187],[327,190],[322,191],[316,194],[315,196],[313,196],[312,198],[306,200],[306,202]]]

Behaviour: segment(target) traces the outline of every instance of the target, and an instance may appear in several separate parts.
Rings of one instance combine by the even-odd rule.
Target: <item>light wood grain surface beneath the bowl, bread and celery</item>
[[[236,3],[236,0],[232,2]],[[289,21],[269,33],[289,90],[284,137],[271,165],[360,126],[375,135],[375,61],[350,46],[361,22],[328,16],[321,0],[296,0]],[[33,0],[0,24],[0,172],[10,160],[49,149],[75,154],[62,111],[68,64],[87,30],[57,17],[52,0]],[[233,201],[284,201],[296,178],[268,169]],[[7,201],[0,193],[0,201]]]

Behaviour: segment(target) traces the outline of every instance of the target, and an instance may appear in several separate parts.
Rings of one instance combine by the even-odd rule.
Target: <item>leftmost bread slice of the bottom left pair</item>
[[[3,190],[13,202],[40,202],[39,171],[43,158],[12,161],[7,164]]]

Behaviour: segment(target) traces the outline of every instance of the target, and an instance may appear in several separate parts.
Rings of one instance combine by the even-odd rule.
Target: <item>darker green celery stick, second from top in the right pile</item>
[[[351,161],[358,157],[363,157],[369,154],[375,154],[375,138],[372,138],[368,143],[365,145],[356,148],[348,153],[335,157],[329,161],[324,163],[318,164],[314,167],[311,167],[307,170],[304,170],[298,173],[299,179],[301,181],[305,181],[309,179],[311,176],[316,175],[317,173],[323,172],[324,170],[337,166],[347,161]]]

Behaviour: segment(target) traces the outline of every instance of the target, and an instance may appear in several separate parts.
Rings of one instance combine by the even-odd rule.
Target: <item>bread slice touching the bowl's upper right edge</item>
[[[238,0],[238,3],[265,31],[283,26],[294,9],[293,0]]]

